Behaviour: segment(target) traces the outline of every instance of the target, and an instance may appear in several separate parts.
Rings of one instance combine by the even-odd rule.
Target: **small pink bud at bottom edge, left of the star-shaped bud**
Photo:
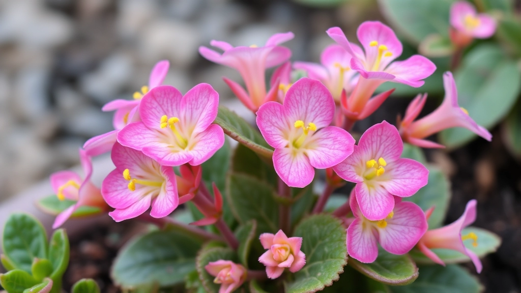
[[[233,292],[246,280],[246,268],[232,261],[218,260],[208,263],[204,268],[215,277],[215,284],[221,284],[219,293]]]

